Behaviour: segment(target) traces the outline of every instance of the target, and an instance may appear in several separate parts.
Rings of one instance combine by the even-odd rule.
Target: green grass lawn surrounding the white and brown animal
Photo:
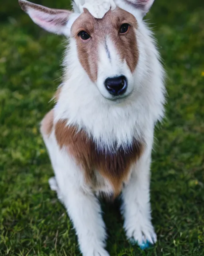
[[[36,0],[68,8],[69,1]],[[118,202],[104,204],[111,256],[204,255],[204,3],[156,0],[148,14],[169,79],[156,131],[151,204],[158,243],[131,246]],[[39,122],[61,76],[62,38],[31,22],[17,0],[0,4],[0,255],[78,256],[73,226],[48,186]]]

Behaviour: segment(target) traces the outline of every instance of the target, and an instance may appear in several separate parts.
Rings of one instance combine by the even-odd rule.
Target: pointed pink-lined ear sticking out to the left
[[[51,9],[26,0],[19,0],[18,2],[22,10],[41,28],[55,34],[70,35],[71,24],[68,24],[68,21],[73,14],[72,11]],[[71,20],[73,21],[73,18]]]

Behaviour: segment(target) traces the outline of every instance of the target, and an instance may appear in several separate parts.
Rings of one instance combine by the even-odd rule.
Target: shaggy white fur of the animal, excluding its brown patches
[[[101,6],[102,1],[106,4],[108,2],[94,1],[95,6]],[[75,14],[71,15],[66,26],[67,36],[84,4],[79,0],[75,2]],[[164,114],[165,73],[153,35],[143,20],[153,0],[131,0],[131,2],[139,2],[139,4],[141,2],[144,8],[135,8],[123,0],[115,0],[114,4],[131,12],[137,19],[138,28],[135,33],[139,60],[135,71],[132,74],[126,62],[121,62],[109,39],[107,44],[111,49],[113,61],[110,62],[104,54],[104,46],[99,45],[98,78],[96,83],[92,82],[78,60],[75,39],[70,38],[64,60],[63,86],[55,107],[54,122],[66,118],[69,120],[67,124],[86,130],[99,148],[107,150],[114,150],[115,142],[118,146],[126,148],[131,144],[133,137],[142,137],[145,140],[145,151],[132,167],[129,180],[122,191],[121,208],[127,237],[142,246],[147,240],[152,244],[157,240],[151,224],[150,164],[154,127]],[[112,1],[109,1],[109,7],[106,4],[105,9],[115,8]],[[100,13],[99,9],[95,14],[92,11],[95,16],[103,15],[104,10]],[[33,10],[30,9],[28,14],[33,18]],[[62,29],[64,29],[62,33],[64,31],[65,34],[65,28]],[[104,80],[119,74],[121,70],[129,82],[127,97],[117,101],[108,100],[109,94],[103,85]],[[95,196],[98,191],[92,191],[84,181],[80,166],[75,163],[67,150],[60,149],[54,131],[50,136],[42,135],[55,172],[55,178],[49,180],[51,189],[57,191],[59,199],[73,221],[83,256],[108,256],[108,252],[104,249],[105,224],[102,220],[100,204]],[[112,186],[108,180],[105,181],[103,190],[107,194],[112,193]]]

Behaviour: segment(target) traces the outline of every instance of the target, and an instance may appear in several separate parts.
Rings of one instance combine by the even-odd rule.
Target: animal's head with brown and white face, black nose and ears
[[[153,0],[120,1],[134,5],[141,17],[153,3]],[[102,19],[96,19],[85,8],[78,13],[51,9],[26,0],[19,0],[19,3],[37,25],[71,38],[70,52],[77,49],[77,56],[72,61],[80,62],[87,77],[104,98],[117,100],[131,94],[141,54],[138,20],[133,14],[117,7],[109,10]]]

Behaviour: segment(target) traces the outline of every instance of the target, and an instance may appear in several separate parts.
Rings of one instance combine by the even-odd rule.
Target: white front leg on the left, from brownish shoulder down
[[[104,249],[105,224],[97,198],[84,180],[83,170],[68,150],[60,148],[53,130],[53,111],[45,116],[41,133],[55,172],[49,180],[75,227],[83,256],[109,256]]]

